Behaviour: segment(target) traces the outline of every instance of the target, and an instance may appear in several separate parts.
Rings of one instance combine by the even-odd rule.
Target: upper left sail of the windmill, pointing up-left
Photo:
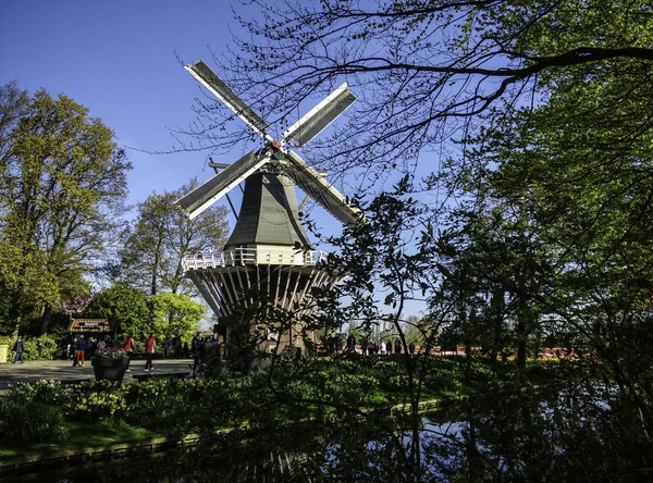
[[[236,92],[234,92],[224,82],[218,77],[211,67],[209,67],[202,60],[199,60],[193,64],[184,65],[184,69],[188,71],[193,77],[195,77],[201,85],[209,89],[218,99],[234,111],[238,117],[251,127],[258,135],[263,139],[271,141],[272,136],[266,134],[268,131],[268,123],[263,121],[254,110],[247,106]]]

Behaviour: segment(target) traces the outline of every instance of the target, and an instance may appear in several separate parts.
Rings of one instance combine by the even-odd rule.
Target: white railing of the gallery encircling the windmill
[[[304,251],[283,248],[236,248],[233,251],[205,251],[185,255],[184,271],[244,265],[303,265],[310,267],[326,259],[325,251]]]

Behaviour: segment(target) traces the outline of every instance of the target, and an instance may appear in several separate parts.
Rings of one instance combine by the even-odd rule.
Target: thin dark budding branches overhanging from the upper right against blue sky
[[[247,3],[260,16],[237,16],[248,35],[214,62],[263,119],[294,119],[304,100],[343,81],[360,97],[348,125],[311,144],[330,172],[410,169],[420,153],[475,132],[478,122],[464,122],[494,106],[501,116],[503,106],[544,99],[569,73],[653,62],[653,21],[642,0]],[[233,115],[217,121],[213,102],[200,102],[198,112],[187,134],[207,148],[229,149],[250,134],[224,129]]]

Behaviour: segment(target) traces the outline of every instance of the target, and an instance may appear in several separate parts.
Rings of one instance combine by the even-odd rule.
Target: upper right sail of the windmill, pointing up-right
[[[308,114],[283,133],[285,141],[295,139],[296,146],[306,144],[320,134],[329,124],[337,119],[356,101],[356,96],[347,83],[340,86],[322,102],[311,109]]]

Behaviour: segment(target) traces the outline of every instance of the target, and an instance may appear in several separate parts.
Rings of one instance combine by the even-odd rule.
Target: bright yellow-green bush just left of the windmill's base
[[[157,294],[150,297],[153,314],[153,333],[157,337],[180,336],[190,338],[206,314],[204,305],[185,294]]]

